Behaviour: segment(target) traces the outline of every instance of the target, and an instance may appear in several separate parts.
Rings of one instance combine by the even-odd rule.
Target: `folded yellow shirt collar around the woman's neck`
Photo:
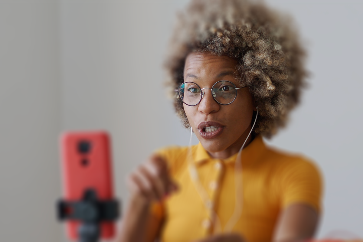
[[[265,151],[266,146],[262,139],[262,136],[258,135],[252,142],[242,150],[241,159],[242,164],[246,163],[252,163],[253,161],[256,161],[258,157],[262,155],[262,153]],[[208,154],[208,152],[204,149],[204,147],[199,144],[195,146],[193,153],[193,159],[196,164],[202,164],[204,161],[213,160],[213,158]],[[232,163],[236,161],[238,152],[231,157],[228,157],[227,159],[220,159],[224,163]]]

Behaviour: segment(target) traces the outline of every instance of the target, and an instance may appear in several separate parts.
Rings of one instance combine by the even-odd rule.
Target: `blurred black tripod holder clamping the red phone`
[[[59,220],[81,221],[78,228],[79,242],[97,242],[100,222],[114,221],[119,216],[118,202],[98,200],[94,189],[87,189],[81,201],[59,201],[57,209]]]

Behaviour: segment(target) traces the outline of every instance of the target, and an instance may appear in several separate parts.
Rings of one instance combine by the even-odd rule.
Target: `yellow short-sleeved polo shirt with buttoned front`
[[[162,223],[161,241],[188,242],[216,233],[213,210],[224,228],[234,211],[237,154],[213,159],[200,143],[192,146],[193,162],[211,202],[206,208],[189,174],[188,147],[158,153],[168,161],[180,187],[162,204],[152,206],[151,213]],[[311,161],[266,147],[261,136],[243,149],[241,159],[243,206],[233,231],[248,242],[271,241],[279,213],[290,204],[307,204],[320,212],[322,181]]]

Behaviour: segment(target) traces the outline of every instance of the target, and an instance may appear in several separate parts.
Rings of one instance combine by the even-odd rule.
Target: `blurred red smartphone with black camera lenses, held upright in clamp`
[[[82,200],[87,189],[94,189],[100,200],[113,199],[110,138],[105,131],[65,132],[61,135],[63,198]],[[78,239],[78,221],[66,221],[72,240]],[[103,239],[114,236],[113,222],[101,222]]]

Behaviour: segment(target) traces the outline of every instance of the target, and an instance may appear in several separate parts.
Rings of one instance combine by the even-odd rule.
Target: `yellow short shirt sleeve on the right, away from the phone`
[[[290,161],[281,178],[282,207],[303,203],[321,212],[322,179],[314,163],[305,159]]]

